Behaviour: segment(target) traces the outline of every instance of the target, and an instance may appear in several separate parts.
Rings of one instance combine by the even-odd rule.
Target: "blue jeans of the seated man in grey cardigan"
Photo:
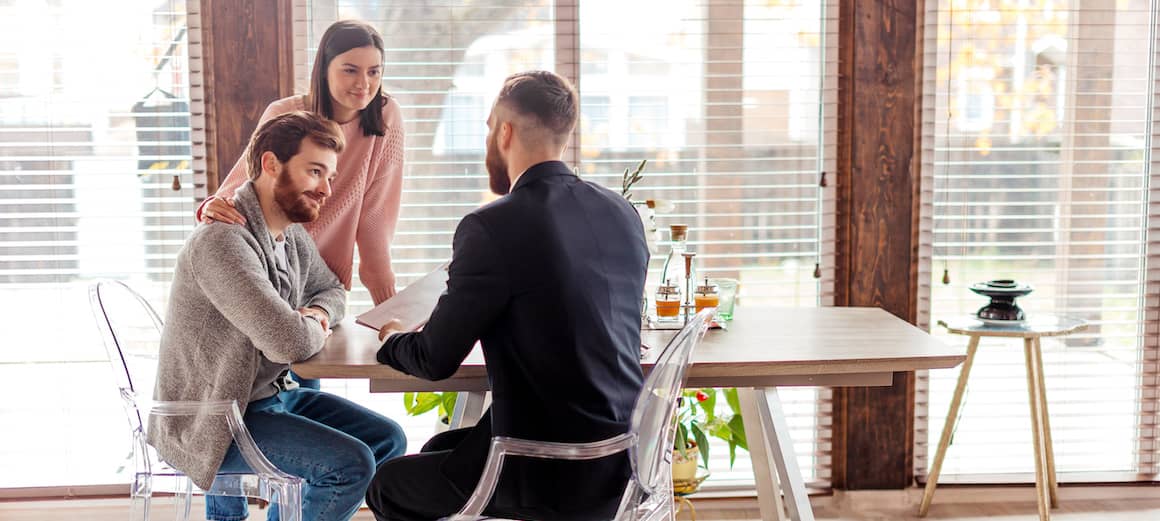
[[[303,486],[303,520],[346,521],[362,505],[367,486],[383,462],[401,456],[407,439],[391,419],[354,401],[313,389],[282,391],[252,401],[244,417],[258,448]],[[248,472],[235,444],[222,462],[223,472]],[[245,498],[205,498],[205,519],[244,520]],[[268,520],[278,519],[271,504]]]

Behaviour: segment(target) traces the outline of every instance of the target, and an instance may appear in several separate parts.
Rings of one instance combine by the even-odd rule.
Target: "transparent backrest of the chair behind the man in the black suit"
[[[629,460],[638,484],[650,494],[669,479],[665,463],[673,457],[676,398],[681,396],[686,371],[693,362],[693,349],[704,337],[716,311],[710,307],[698,312],[665,346],[632,408],[631,429],[637,434],[637,444],[629,449]]]

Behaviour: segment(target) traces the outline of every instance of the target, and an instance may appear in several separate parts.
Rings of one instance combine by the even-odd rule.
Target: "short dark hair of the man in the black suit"
[[[575,129],[579,99],[575,87],[564,77],[550,71],[527,71],[503,80],[495,103],[534,118],[554,144],[563,145]]]

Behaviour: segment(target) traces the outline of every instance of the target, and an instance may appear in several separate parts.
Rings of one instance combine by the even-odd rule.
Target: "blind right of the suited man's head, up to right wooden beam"
[[[687,224],[701,276],[738,278],[742,305],[815,306],[832,287],[813,272],[827,232],[819,175],[835,150],[836,37],[826,37],[838,9],[768,3],[580,2],[580,173],[617,188],[647,159],[633,198],[673,203],[657,216],[661,237]],[[781,396],[806,480],[828,486],[828,390]],[[748,458],[731,472],[727,454],[711,453],[717,485],[752,479]]]

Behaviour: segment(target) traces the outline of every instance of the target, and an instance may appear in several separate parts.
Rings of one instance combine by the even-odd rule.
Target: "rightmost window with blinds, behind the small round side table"
[[[1153,479],[1154,2],[926,6],[922,175],[933,262],[920,272],[930,275],[921,320],[973,312],[986,301],[967,287],[993,278],[1034,285],[1020,299],[1029,314],[1088,320],[1081,334],[1043,341],[1059,477]],[[920,378],[920,476],[957,375]],[[1021,346],[984,339],[943,480],[1031,480],[1030,454]]]

